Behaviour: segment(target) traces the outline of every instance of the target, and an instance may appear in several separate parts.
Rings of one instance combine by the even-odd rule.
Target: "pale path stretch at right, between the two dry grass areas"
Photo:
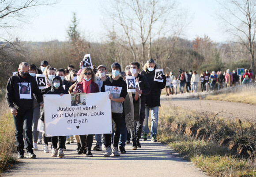
[[[200,100],[191,98],[190,96],[190,94],[177,94],[168,97],[161,95],[161,104],[183,107],[198,112],[229,112],[230,114],[219,113],[219,115],[230,119],[246,119],[254,122],[256,120],[256,105],[228,101]]]

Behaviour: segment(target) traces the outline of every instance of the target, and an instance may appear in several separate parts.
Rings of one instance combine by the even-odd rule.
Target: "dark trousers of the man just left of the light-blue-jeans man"
[[[139,139],[141,138],[141,132],[142,132],[142,128],[143,128],[143,122],[145,119],[145,101],[141,102],[141,106],[140,106],[140,113],[139,113],[139,122],[137,122],[135,124],[135,132],[131,131],[131,136],[132,136],[132,142],[135,143],[136,141],[139,141]]]

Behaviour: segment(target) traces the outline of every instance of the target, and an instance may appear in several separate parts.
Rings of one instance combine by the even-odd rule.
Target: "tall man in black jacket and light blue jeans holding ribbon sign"
[[[148,129],[148,116],[149,109],[151,109],[151,131],[150,137],[152,142],[157,142],[157,126],[158,126],[158,108],[160,105],[160,94],[161,89],[166,87],[166,76],[163,75],[163,82],[154,81],[156,65],[153,59],[147,61],[146,78],[150,85],[151,92],[146,95],[146,109],[145,109],[145,120],[143,122],[143,141],[147,140]]]

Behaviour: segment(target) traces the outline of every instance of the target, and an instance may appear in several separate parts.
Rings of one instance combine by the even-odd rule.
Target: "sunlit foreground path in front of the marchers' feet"
[[[38,145],[39,150],[34,151],[38,158],[21,159],[21,163],[5,172],[4,176],[205,176],[173,149],[150,140],[142,141],[139,150],[131,150],[132,145],[126,145],[127,154],[120,157],[104,157],[102,151],[92,151],[93,157],[77,155],[75,144],[66,145],[68,151],[64,152],[63,158],[43,153],[43,145]]]

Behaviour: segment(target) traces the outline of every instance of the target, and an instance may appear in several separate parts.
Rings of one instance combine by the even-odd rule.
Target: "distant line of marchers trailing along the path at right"
[[[255,78],[256,80],[256,78]],[[207,70],[202,72],[199,76],[196,71],[184,72],[179,70],[179,76],[174,76],[173,72],[166,73],[166,96],[169,94],[177,94],[177,88],[180,90],[180,94],[186,92],[197,92],[197,86],[200,83],[202,91],[214,91],[224,87],[236,86],[238,84],[247,84],[253,82],[253,72],[251,69],[245,69],[243,76],[237,75],[237,72],[230,69],[226,71],[212,71]]]

